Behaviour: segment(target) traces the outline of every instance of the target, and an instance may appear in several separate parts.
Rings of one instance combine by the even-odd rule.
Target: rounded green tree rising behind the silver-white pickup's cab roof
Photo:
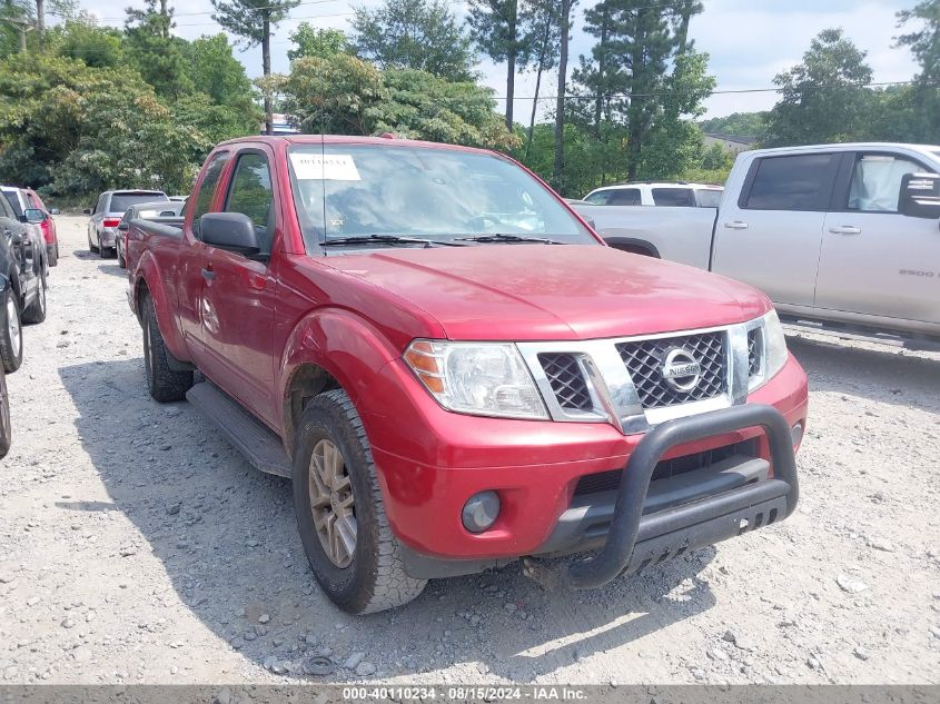
[[[770,112],[768,146],[849,141],[865,130],[871,68],[841,29],[821,31],[803,62],[779,73],[780,101]]]

